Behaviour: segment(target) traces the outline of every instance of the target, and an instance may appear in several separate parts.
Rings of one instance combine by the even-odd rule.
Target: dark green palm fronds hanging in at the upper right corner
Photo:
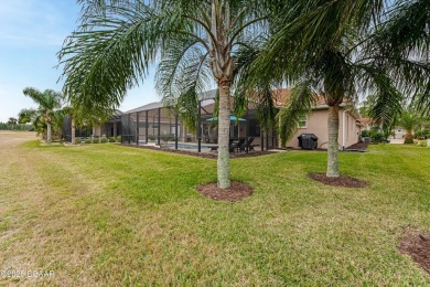
[[[427,0],[396,1],[373,36],[373,49],[384,57],[418,63],[418,66],[410,66],[402,73],[412,82],[405,85],[402,98],[376,97],[370,114],[381,124],[394,121],[402,113],[401,102],[405,98],[421,115],[430,115],[429,11],[430,1]],[[427,73],[420,70],[427,70]]]

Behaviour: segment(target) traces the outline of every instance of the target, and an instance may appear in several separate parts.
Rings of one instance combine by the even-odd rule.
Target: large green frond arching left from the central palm
[[[93,3],[94,1],[89,1]],[[116,108],[155,59],[162,32],[152,9],[140,1],[111,1],[104,13],[88,13],[58,52],[64,94],[83,110]]]

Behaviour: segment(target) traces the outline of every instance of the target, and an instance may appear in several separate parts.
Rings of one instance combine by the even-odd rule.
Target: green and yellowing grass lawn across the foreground
[[[11,149],[12,150],[12,149]],[[370,146],[341,153],[346,189],[307,177],[324,152],[232,160],[254,187],[238,203],[196,193],[216,161],[116,145],[8,152],[0,173],[2,278],[46,285],[428,285],[397,247],[405,227],[430,230],[430,149]]]

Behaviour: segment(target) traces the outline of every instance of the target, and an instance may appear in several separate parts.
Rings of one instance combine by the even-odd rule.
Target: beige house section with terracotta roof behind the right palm
[[[277,105],[282,106],[291,93],[290,88],[276,91]],[[359,113],[353,105],[342,103],[338,109],[338,146],[341,149],[347,148],[361,139],[361,131],[363,125],[359,121]],[[287,142],[287,147],[298,148],[301,134],[314,134],[318,137],[318,147],[322,149],[327,148],[329,142],[329,106],[325,104],[323,97],[319,100],[312,111],[303,117],[294,136]]]

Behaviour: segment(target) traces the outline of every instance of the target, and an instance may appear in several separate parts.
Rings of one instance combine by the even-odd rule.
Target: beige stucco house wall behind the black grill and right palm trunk
[[[340,108],[338,111],[338,144],[340,147],[345,148],[358,142],[361,129],[356,125],[356,118],[350,111],[344,113],[344,108]],[[329,141],[329,128],[327,128],[329,109],[314,109],[308,116],[308,125],[305,128],[299,128],[290,141],[287,142],[287,147],[299,147],[298,137],[301,134],[314,134],[318,137],[318,147],[326,149]],[[343,142],[343,126],[345,123],[345,142]]]

